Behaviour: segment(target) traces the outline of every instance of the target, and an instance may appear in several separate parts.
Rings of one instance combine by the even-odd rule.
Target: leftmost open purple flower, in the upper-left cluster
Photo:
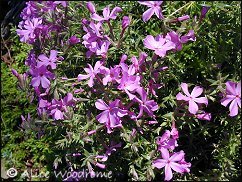
[[[20,36],[20,41],[32,44],[35,42],[35,30],[42,24],[42,19],[33,18],[27,19],[24,21],[23,26],[19,26],[20,29],[17,29],[16,32]]]

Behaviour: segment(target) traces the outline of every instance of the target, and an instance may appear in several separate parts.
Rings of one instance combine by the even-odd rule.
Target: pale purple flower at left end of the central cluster
[[[85,72],[88,73],[87,75],[79,74],[78,75],[78,81],[85,80],[89,78],[88,80],[88,86],[93,87],[94,81],[93,79],[95,78],[96,74],[99,73],[99,68],[102,66],[100,61],[97,61],[94,68],[90,65],[87,64],[89,68],[84,68]]]

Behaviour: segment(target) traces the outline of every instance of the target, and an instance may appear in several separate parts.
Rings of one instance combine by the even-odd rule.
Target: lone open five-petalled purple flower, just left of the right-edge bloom
[[[188,92],[188,85],[186,83],[182,83],[181,88],[186,96],[184,96],[179,92],[176,95],[176,99],[187,101],[189,103],[188,110],[191,114],[196,114],[198,111],[198,105],[196,103],[199,103],[199,104],[204,103],[206,105],[208,104],[208,99],[206,97],[198,98],[198,96],[201,95],[203,92],[203,89],[201,87],[199,86],[194,87],[191,94]]]

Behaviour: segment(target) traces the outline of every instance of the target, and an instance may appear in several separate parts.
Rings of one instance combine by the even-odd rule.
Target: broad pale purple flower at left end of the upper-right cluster
[[[173,42],[163,38],[162,35],[157,35],[155,38],[152,35],[147,35],[144,39],[144,46],[154,50],[155,54],[160,57],[165,57],[168,50],[176,47]]]

